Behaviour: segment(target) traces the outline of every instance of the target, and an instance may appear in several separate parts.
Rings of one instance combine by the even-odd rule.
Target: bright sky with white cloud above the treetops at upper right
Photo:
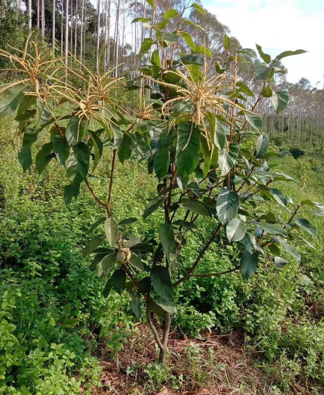
[[[282,59],[287,80],[301,77],[313,87],[324,83],[324,0],[201,0],[218,21],[231,30],[244,48],[262,47],[272,58],[287,50],[302,55]]]

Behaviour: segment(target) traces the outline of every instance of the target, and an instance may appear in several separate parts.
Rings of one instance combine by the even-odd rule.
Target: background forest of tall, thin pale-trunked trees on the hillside
[[[182,0],[156,3],[158,17],[163,19],[166,7],[181,13],[185,2]],[[61,52],[61,56],[65,56],[66,62],[70,53],[93,70],[116,68],[115,76],[127,73],[134,77],[141,71],[137,70],[143,60],[142,56],[138,56],[141,43],[144,38],[152,39],[153,30],[150,27],[153,9],[146,5],[145,1],[98,0],[97,8],[89,0],[79,0],[79,2],[78,0],[53,2],[37,0],[33,3],[31,0],[29,2],[2,0],[1,4],[0,47],[2,49],[8,48],[8,44],[16,47],[20,43],[22,46],[29,26],[38,27],[40,35],[47,42],[52,45],[54,42],[57,43],[57,51]],[[218,21],[216,15],[208,11],[202,14],[195,8],[188,11],[186,18],[188,21],[186,32],[193,37],[194,45],[205,43],[205,46],[211,50],[207,55],[222,64],[224,59],[222,40],[225,33],[230,34],[229,27]],[[137,22],[131,23],[134,20]],[[170,19],[167,30],[172,32],[175,28]],[[231,38],[231,45],[233,50],[243,49],[235,37]],[[188,48],[185,40],[179,40],[175,58]],[[154,45],[148,53],[148,59],[153,49]],[[239,80],[252,87],[252,92],[256,94],[262,87],[262,81],[257,79],[255,73],[256,69],[260,68],[260,60],[250,62],[250,59],[247,60],[243,55],[241,61],[245,62],[245,67],[240,68]],[[8,67],[8,61],[0,59],[0,62],[1,68]],[[262,116],[267,133],[270,137],[281,137],[291,145],[305,145],[308,149],[318,147],[323,151],[323,87],[312,87],[306,78],[301,78],[296,84],[289,83],[284,64],[279,63],[277,67],[282,71],[274,74],[269,86],[273,90],[288,90],[290,101],[280,114],[276,113],[271,103],[265,101],[258,103],[256,111]]]

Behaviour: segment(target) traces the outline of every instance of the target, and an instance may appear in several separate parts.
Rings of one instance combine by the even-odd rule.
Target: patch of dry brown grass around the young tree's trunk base
[[[169,380],[153,388],[144,369],[157,358],[155,342],[145,324],[138,325],[138,329],[140,335],[132,335],[124,344],[118,363],[116,357],[112,361],[108,357],[102,361],[102,387],[93,388],[93,395],[153,395],[159,391],[160,395],[273,393],[272,383],[265,382],[262,372],[254,367],[252,356],[244,353],[243,337],[238,333],[206,333],[202,339],[190,340],[181,339],[173,332],[169,339],[169,370],[165,374]],[[129,368],[135,366],[137,369],[129,373]],[[179,377],[183,378],[181,389],[175,390],[172,383],[179,383]]]

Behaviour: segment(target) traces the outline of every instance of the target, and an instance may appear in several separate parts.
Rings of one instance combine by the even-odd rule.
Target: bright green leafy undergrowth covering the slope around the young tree
[[[99,386],[100,377],[93,355],[116,360],[137,322],[126,294],[102,297],[104,280],[90,267],[93,257],[82,257],[87,241],[103,233],[100,227],[90,234],[87,230],[104,212],[84,184],[78,200],[66,208],[63,188],[68,182],[62,181],[64,169],[55,161],[41,176],[33,166],[23,174],[17,152],[6,138],[11,119],[0,122],[0,388],[4,394],[42,395],[78,393],[81,386],[83,393],[90,393]],[[34,155],[41,145],[42,139],[33,146]],[[277,162],[285,173],[302,182],[276,182],[275,187],[295,202],[307,198],[323,202],[323,158],[318,158],[316,171],[300,169],[298,160],[285,157]],[[110,163],[108,148],[94,173],[103,176],[89,178],[102,200],[107,198]],[[144,166],[133,157],[124,166],[118,162],[111,209],[117,220],[137,217],[139,221],[129,226],[129,232],[150,241],[157,236],[155,222],[163,217],[156,211],[142,220],[147,199],[156,190],[156,182],[146,176]],[[271,205],[265,204],[264,212],[269,209]],[[284,207],[280,215],[286,220],[290,217]],[[194,277],[176,290],[175,302],[182,303],[175,319],[190,337],[200,337],[206,329],[244,331],[246,354],[259,353],[255,363],[276,383],[278,393],[290,393],[290,387],[297,385],[320,394],[324,388],[323,219],[308,213],[303,218],[315,224],[318,237],[303,235],[314,248],[299,243],[300,263],[288,255],[282,269],[266,261],[248,281],[238,273]],[[197,227],[198,232],[188,233],[182,250],[186,267],[214,231],[214,225],[204,219],[197,220]],[[233,267],[236,245],[221,252],[221,243],[227,244],[224,235],[199,263],[200,273]]]

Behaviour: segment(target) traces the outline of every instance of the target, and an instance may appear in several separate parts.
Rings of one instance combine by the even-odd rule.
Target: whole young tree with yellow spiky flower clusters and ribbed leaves
[[[271,59],[257,45],[267,66],[260,65],[256,70],[262,86],[255,97],[238,75],[241,64],[245,64],[241,59],[257,58],[256,51],[245,48],[232,52],[231,40],[225,34],[224,63],[213,64],[210,48],[197,47],[185,31],[190,24],[184,17],[186,7],[180,13],[167,9],[163,19],[157,21],[154,1],[147,2],[154,10],[149,21],[153,36],[144,38],[140,47],[144,59],[138,77],[124,82],[109,73],[93,74],[80,64],[78,76],[84,87],[79,89],[55,75],[44,78],[49,67],[57,67],[58,60],[53,60],[50,53],[36,53],[40,59],[36,64],[33,56],[1,51],[25,70],[26,78],[2,88],[0,115],[17,110],[12,143],[16,144],[23,134],[18,159],[24,171],[32,165],[32,144],[40,132],[45,138],[49,128],[47,142],[36,154],[36,170],[41,174],[51,160],[65,167],[66,204],[78,196],[80,185],[85,183],[102,214],[88,231],[98,233],[85,246],[83,256],[94,254],[91,267],[104,281],[103,296],[123,294],[129,298],[134,314],[147,321],[159,348],[159,361],[165,363],[170,323],[180,303],[173,299],[176,286],[195,276],[213,278],[231,272],[240,272],[248,280],[265,264],[286,265],[283,251],[300,260],[296,247],[300,243],[310,245],[303,232],[317,235],[315,226],[301,213],[309,208],[309,213],[323,216],[324,205],[309,199],[294,202],[277,189],[276,181],[297,181],[269,166],[268,158],[286,152],[271,147],[263,121],[255,113],[258,103],[266,100],[271,100],[277,113],[285,109],[288,92],[273,91],[269,80],[282,72],[277,67],[281,58],[305,51],[284,51]],[[190,8],[205,12],[196,3]],[[169,19],[177,19],[172,33],[166,31]],[[175,59],[180,40],[186,42],[188,51],[180,52]],[[150,49],[149,60],[146,56]],[[207,76],[212,65],[215,73]],[[112,92],[121,87],[138,92],[135,115],[129,115],[114,98]],[[144,96],[145,89],[151,92],[149,98]],[[66,101],[72,103],[72,110],[64,106]],[[61,108],[60,117],[54,115],[57,107]],[[98,122],[100,129],[91,130],[92,121]],[[96,171],[104,149],[111,154],[106,197],[97,195],[89,174]],[[158,236],[154,243],[143,241],[144,232],[139,226],[139,235],[131,235],[129,226],[137,218],[126,216],[117,221],[111,205],[116,161],[126,164],[132,155],[147,161],[148,173],[154,173],[158,182],[157,192],[143,212],[144,220],[154,212],[160,214],[155,221],[154,233]],[[100,176],[106,177],[106,172]],[[285,208],[287,216],[280,207]],[[196,258],[186,260],[182,247],[189,232],[198,231],[197,218],[209,222],[212,232]],[[104,241],[109,246],[101,247]],[[224,272],[199,273],[199,264],[212,243],[218,243],[220,249],[234,243],[236,252],[230,267]]]

